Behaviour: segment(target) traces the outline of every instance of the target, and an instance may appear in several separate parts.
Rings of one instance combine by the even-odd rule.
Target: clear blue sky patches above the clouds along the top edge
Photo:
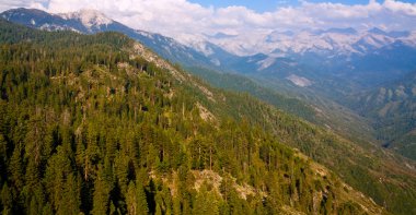
[[[256,12],[271,12],[281,7],[298,7],[301,1],[299,0],[189,0],[194,3],[199,3],[204,7],[226,8],[230,5],[243,5]],[[368,0],[308,0],[311,3],[343,3],[348,5],[367,4]],[[378,0],[383,2],[383,0]],[[402,0],[402,2],[415,3],[416,0]]]

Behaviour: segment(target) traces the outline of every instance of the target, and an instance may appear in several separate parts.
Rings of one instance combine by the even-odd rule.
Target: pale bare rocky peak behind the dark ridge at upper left
[[[113,20],[107,17],[104,13],[92,9],[82,9],[77,12],[62,13],[59,15],[65,20],[78,19],[88,28],[113,23]]]

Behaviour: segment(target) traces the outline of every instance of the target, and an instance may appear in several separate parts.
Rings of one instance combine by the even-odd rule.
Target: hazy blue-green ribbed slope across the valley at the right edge
[[[416,158],[416,72],[349,97],[351,108],[371,118],[385,147]]]

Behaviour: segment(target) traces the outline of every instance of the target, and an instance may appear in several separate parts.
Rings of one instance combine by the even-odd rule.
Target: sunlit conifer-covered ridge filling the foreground
[[[307,122],[207,97],[120,34],[0,28],[2,214],[385,213],[286,145],[331,136]]]

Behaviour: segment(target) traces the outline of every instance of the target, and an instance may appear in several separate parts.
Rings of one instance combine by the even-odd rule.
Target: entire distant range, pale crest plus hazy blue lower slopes
[[[309,80],[311,84],[307,86],[311,87],[327,88],[323,82],[331,82],[347,89],[351,85],[362,89],[403,77],[416,69],[415,32],[331,28],[273,32],[255,40],[245,35],[206,39],[239,56],[221,61],[226,70],[271,82],[288,83],[292,80],[288,77],[297,75]],[[305,86],[299,82],[289,84]]]

